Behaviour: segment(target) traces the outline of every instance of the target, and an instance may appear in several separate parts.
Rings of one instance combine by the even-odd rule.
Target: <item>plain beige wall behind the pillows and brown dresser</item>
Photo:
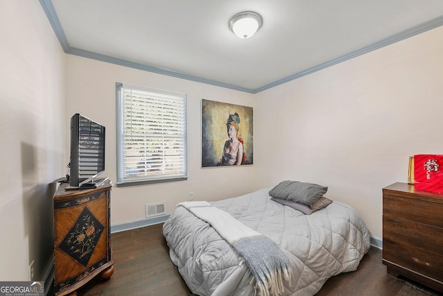
[[[381,238],[381,189],[443,153],[443,27],[256,96],[257,180],[329,186]]]

